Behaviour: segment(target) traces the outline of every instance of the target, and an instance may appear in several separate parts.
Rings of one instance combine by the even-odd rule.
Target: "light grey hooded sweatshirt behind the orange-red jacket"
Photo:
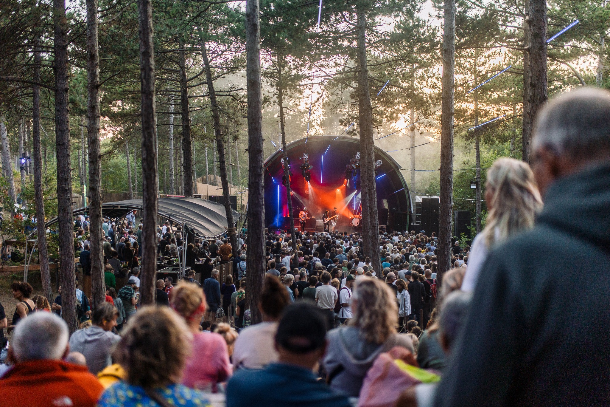
[[[70,351],[81,352],[87,359],[89,372],[97,375],[110,365],[112,347],[121,337],[110,331],[104,331],[97,325],[78,330],[70,337]]]

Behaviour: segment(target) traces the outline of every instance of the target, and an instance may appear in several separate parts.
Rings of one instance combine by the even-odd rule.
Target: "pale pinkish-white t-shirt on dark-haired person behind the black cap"
[[[279,355],[274,347],[277,330],[277,322],[261,322],[242,330],[235,340],[233,366],[263,369],[277,362]]]

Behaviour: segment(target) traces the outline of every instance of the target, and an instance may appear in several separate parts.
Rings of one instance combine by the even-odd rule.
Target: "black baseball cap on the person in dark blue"
[[[320,309],[308,301],[291,304],[279,321],[275,342],[298,354],[320,349],[326,342],[326,319]]]

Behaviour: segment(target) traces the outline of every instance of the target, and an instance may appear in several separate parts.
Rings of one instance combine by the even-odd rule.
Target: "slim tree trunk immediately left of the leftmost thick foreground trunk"
[[[34,83],[40,82],[40,46],[34,48]],[[32,86],[32,160],[34,162],[34,201],[36,206],[36,229],[38,235],[38,263],[40,264],[40,279],[43,295],[52,301],[51,271],[49,270],[49,253],[46,243],[45,199],[42,185],[42,154],[40,151],[40,87]]]

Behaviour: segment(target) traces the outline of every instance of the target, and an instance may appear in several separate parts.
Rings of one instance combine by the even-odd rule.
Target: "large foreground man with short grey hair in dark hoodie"
[[[610,405],[610,92],[551,101],[532,151],[545,208],[490,251],[437,407]]]

